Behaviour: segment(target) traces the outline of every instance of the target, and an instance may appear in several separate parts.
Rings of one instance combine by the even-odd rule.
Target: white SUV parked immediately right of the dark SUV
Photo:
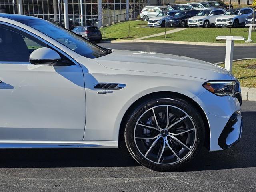
[[[190,18],[188,20],[188,26],[189,27],[210,27],[211,25],[214,25],[215,19],[224,14],[224,10],[221,9],[215,9],[215,10],[202,10],[200,11],[196,16]]]

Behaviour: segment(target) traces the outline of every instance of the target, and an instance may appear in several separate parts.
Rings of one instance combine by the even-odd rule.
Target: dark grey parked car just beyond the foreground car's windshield
[[[101,32],[96,26],[78,26],[72,31],[88,41],[99,43],[102,40]]]

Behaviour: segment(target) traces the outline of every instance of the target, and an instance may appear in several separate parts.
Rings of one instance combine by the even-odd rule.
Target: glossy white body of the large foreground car
[[[0,148],[116,148],[120,124],[128,108],[147,94],[165,91],[183,94],[197,102],[209,122],[210,150],[220,150],[218,136],[228,117],[240,110],[237,98],[216,96],[203,88],[208,80],[235,79],[214,64],[168,54],[121,50],[89,59],[20,22],[0,17],[0,23],[26,30],[76,64],[0,65],[1,80],[14,87],[0,89],[1,97],[4,96],[0,104],[6,113],[0,119],[0,132],[8,128],[6,134],[10,136],[1,135]],[[10,72],[16,74],[15,78]],[[101,90],[94,86],[104,82],[122,83],[126,87],[98,94]],[[27,130],[26,135],[20,130]],[[56,130],[60,135],[53,134]],[[230,142],[236,139],[235,132]]]

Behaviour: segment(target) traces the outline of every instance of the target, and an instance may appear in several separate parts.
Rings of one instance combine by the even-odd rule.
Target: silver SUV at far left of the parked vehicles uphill
[[[144,21],[148,21],[151,17],[156,17],[162,11],[172,11],[173,8],[170,6],[146,6],[140,12],[140,18]]]

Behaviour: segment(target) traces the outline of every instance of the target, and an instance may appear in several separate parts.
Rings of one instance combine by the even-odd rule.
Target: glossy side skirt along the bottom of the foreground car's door
[[[10,148],[118,148],[118,141],[0,140],[0,149]]]

